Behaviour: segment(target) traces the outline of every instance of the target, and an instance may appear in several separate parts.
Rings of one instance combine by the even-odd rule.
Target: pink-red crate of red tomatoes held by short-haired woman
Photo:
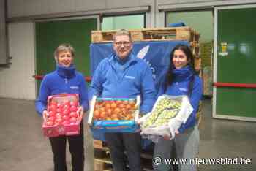
[[[78,111],[78,94],[58,94],[48,96],[48,117],[42,123],[46,137],[80,134],[82,117]]]

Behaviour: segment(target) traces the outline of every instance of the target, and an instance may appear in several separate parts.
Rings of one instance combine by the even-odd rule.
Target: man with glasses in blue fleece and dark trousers
[[[132,39],[127,30],[117,31],[113,41],[115,53],[102,60],[94,72],[91,89],[102,98],[134,98],[141,96],[140,114],[151,111],[155,88],[148,64],[132,53]],[[115,171],[126,170],[124,151],[127,152],[129,169],[140,171],[140,132],[106,133],[105,140]]]

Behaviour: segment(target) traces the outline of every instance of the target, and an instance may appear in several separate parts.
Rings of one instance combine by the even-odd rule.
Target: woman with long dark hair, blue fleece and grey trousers
[[[167,94],[171,96],[187,95],[192,104],[193,111],[186,123],[182,123],[176,130],[176,136],[163,137],[155,144],[154,157],[161,157],[162,164],[154,164],[154,170],[172,170],[171,164],[165,164],[165,159],[172,159],[170,153],[176,151],[177,159],[189,162],[197,156],[199,149],[199,131],[197,128],[196,113],[203,94],[203,83],[196,75],[194,59],[187,45],[176,45],[170,53],[170,67],[165,80],[159,89],[158,96]],[[170,140],[172,139],[172,140]],[[179,171],[197,170],[195,164],[178,164]]]

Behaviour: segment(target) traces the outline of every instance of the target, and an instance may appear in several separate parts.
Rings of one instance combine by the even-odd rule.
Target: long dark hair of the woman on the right
[[[166,75],[164,91],[167,90],[167,86],[170,86],[173,83],[173,69],[175,69],[175,67],[173,66],[173,56],[174,56],[175,50],[181,50],[182,52],[185,53],[185,55],[187,56],[188,65],[190,66],[190,69],[192,70],[193,76],[189,82],[189,88],[188,88],[189,91],[187,94],[188,96],[191,96],[192,88],[193,88],[193,84],[194,84],[194,80],[195,80],[194,56],[193,56],[190,48],[187,45],[183,45],[183,44],[176,45],[170,53],[170,66],[169,66],[169,69],[168,69],[168,72]]]

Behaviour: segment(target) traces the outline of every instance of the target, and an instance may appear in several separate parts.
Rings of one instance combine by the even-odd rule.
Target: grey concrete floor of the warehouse
[[[52,171],[50,144],[42,136],[42,118],[34,110],[34,102],[0,98],[0,171]],[[86,131],[86,171],[92,171],[91,133]],[[203,100],[200,125],[200,159],[247,158],[248,165],[200,165],[200,171],[256,170],[256,123],[211,118],[211,100]],[[67,156],[70,170],[70,156]]]

